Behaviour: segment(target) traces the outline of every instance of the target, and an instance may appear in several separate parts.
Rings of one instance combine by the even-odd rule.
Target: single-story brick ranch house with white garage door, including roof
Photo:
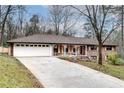
[[[9,55],[16,57],[84,55],[91,59],[98,58],[98,43],[95,39],[37,34],[13,39],[8,43]],[[116,50],[116,44],[105,42],[103,59]]]

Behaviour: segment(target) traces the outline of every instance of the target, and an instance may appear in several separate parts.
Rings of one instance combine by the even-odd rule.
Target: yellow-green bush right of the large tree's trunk
[[[119,58],[117,53],[111,53],[108,55],[107,59],[110,64],[116,65],[116,60]]]

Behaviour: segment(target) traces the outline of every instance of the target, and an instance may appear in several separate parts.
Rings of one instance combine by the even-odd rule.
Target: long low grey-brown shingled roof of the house
[[[88,39],[82,37],[70,37],[60,35],[37,34],[9,40],[8,43],[50,43],[50,44],[83,44],[98,45],[96,39]],[[111,42],[105,42],[104,45],[117,45]]]

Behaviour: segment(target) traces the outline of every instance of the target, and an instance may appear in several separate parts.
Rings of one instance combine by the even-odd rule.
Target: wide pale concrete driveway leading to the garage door
[[[17,58],[47,88],[124,88],[124,81],[55,57]]]

